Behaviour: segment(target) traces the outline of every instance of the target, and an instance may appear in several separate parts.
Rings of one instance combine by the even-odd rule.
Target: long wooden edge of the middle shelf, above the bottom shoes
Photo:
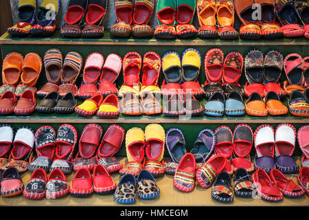
[[[88,124],[88,123],[106,123],[106,124],[278,124],[278,123],[288,123],[288,124],[309,124],[309,119],[295,120],[276,120],[276,119],[242,119],[242,120],[231,120],[231,119],[203,119],[203,120],[179,120],[179,119],[98,119],[98,118],[76,118],[76,119],[65,119],[65,118],[8,118],[0,119],[0,123],[30,123],[30,124],[41,124],[41,123],[68,123],[68,124]]]

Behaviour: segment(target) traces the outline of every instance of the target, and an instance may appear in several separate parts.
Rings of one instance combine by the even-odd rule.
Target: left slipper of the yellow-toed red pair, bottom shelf
[[[142,162],[145,158],[145,134],[140,128],[132,128],[126,132],[126,157],[128,162]]]

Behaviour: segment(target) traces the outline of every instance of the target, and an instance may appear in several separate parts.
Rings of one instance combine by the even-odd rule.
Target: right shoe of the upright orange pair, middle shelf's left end
[[[34,87],[38,81],[38,76],[41,74],[42,66],[42,59],[38,54],[27,54],[23,62],[23,67],[21,68],[23,71],[21,74],[21,83],[29,87]]]

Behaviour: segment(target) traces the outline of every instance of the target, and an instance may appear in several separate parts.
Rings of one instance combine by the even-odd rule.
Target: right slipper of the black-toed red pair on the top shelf
[[[108,0],[89,0],[85,16],[86,25],[82,30],[82,36],[99,38],[104,35],[103,21],[108,9]]]

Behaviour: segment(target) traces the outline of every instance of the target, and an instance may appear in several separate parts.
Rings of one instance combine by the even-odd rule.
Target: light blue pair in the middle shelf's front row
[[[209,116],[223,116],[224,114],[229,116],[243,115],[244,103],[242,95],[237,91],[231,92],[225,99],[225,95],[220,91],[214,92],[207,102],[204,104],[204,113]]]

